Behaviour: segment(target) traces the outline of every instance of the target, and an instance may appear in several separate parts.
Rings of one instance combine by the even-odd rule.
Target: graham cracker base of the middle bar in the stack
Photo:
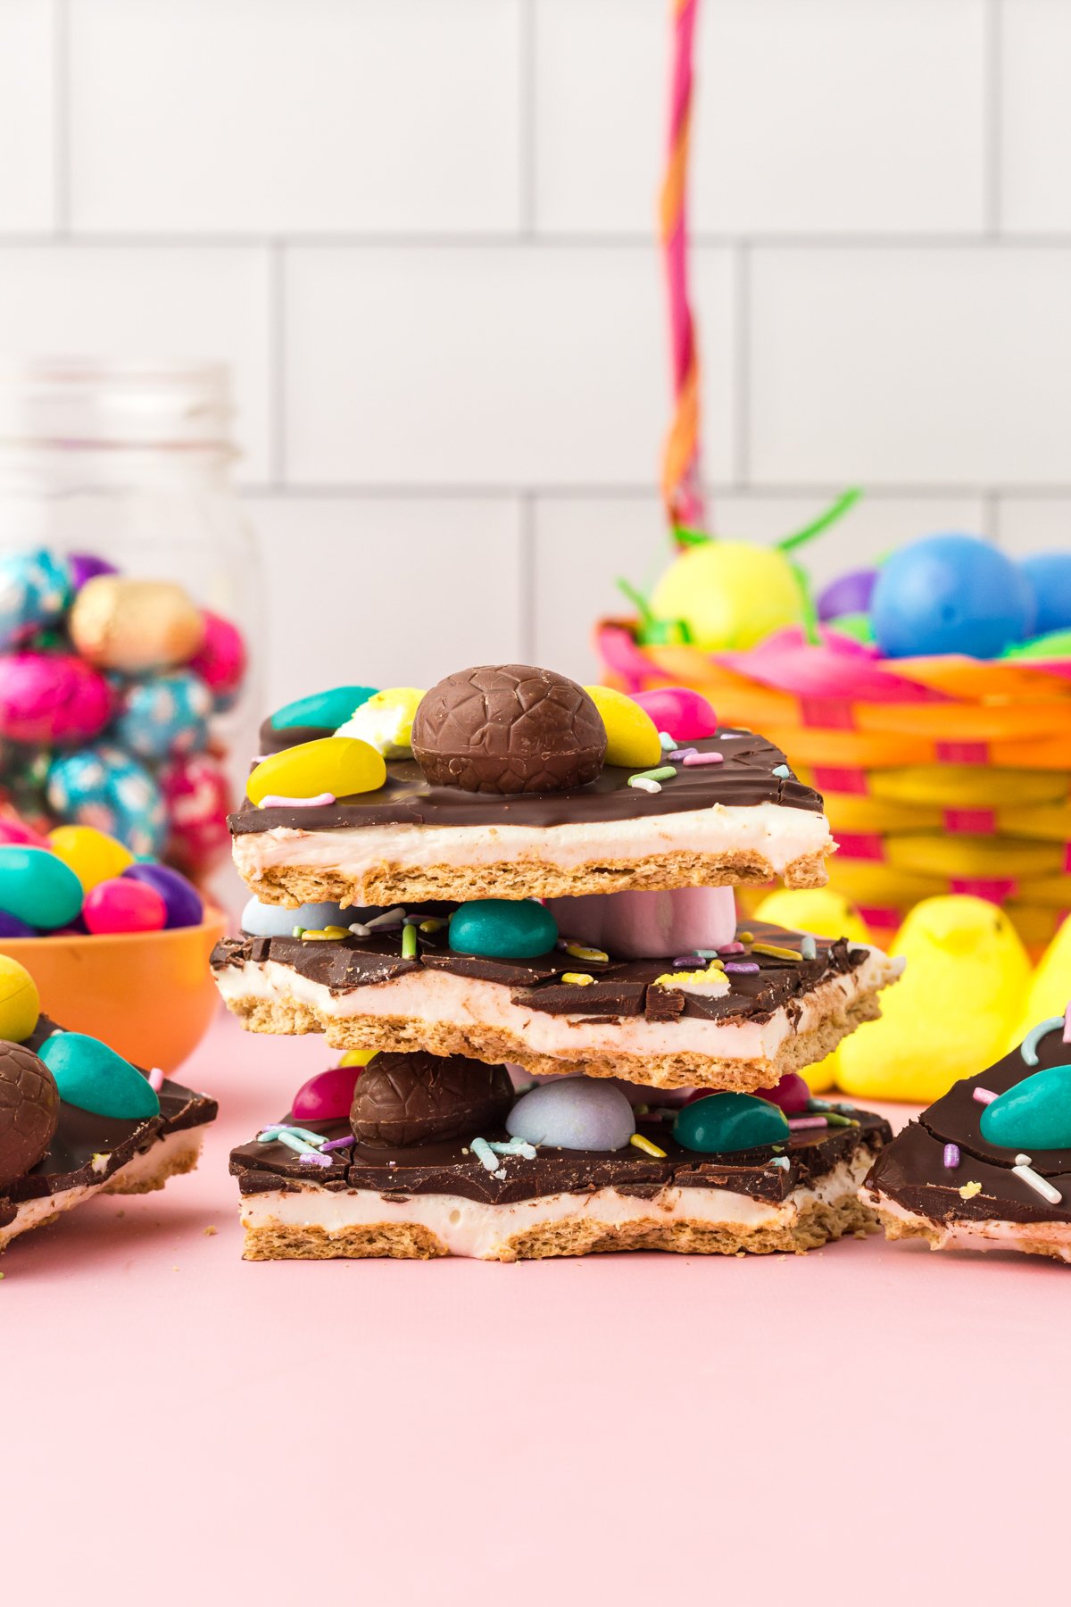
[[[226,1008],[241,1019],[247,1032],[271,1037],[299,1037],[307,1032],[326,1035],[332,1049],[390,1049],[408,1054],[469,1054],[488,1065],[509,1062],[536,1077],[584,1072],[588,1077],[625,1077],[647,1088],[718,1088],[748,1094],[756,1088],[772,1088],[785,1072],[830,1054],[837,1045],[867,1020],[882,1014],[877,993],[857,995],[808,1032],[790,1033],[777,1054],[769,1057],[719,1059],[708,1054],[618,1054],[578,1051],[575,1057],[533,1053],[527,1041],[501,1027],[480,1022],[422,1020],[409,1016],[328,1016],[313,1004],[292,996],[286,1000],[228,1000]],[[684,1032],[673,1024],[673,1032]]]

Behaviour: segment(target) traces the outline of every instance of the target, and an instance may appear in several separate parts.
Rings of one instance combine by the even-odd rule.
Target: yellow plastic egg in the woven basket
[[[782,625],[798,624],[803,596],[777,548],[703,542],[670,566],[650,596],[650,611],[663,620],[684,620],[705,652],[724,652],[753,648]]]

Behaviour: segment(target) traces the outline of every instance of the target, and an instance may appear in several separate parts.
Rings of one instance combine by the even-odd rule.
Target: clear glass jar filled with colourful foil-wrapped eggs
[[[0,820],[201,882],[260,705],[230,423],[222,366],[0,363]]]

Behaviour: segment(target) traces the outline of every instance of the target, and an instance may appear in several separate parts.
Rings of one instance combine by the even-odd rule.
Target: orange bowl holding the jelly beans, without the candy
[[[226,918],[201,926],[116,937],[3,937],[0,955],[26,966],[42,1009],[69,1032],[87,1032],[135,1065],[173,1072],[212,1024],[218,995],[209,971]]]

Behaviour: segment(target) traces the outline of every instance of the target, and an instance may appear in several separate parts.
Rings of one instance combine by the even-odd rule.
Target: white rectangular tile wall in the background
[[[223,357],[275,699],[665,559],[670,0],[3,0],[0,350]],[[702,0],[718,530],[1071,545],[1071,0]]]

